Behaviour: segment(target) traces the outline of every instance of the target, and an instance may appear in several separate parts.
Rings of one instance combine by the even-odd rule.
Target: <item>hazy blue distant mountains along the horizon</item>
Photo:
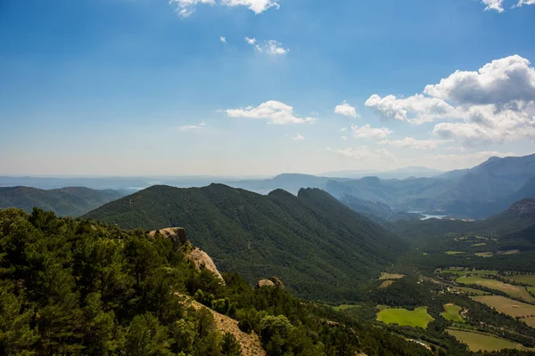
[[[341,176],[333,178],[332,175]],[[354,178],[361,174],[366,176]],[[267,195],[282,189],[296,195],[301,188],[318,188],[359,213],[374,219],[394,221],[409,211],[436,212],[456,218],[484,219],[522,198],[535,198],[535,155],[490,158],[471,169],[447,173],[424,167],[407,167],[388,172],[340,171],[331,176],[279,174],[265,179],[210,176],[177,178],[47,178],[0,177],[0,186],[29,185],[54,188],[78,182],[88,188],[143,190],[154,184],[179,188],[202,187],[219,182],[234,188]],[[346,177],[344,177],[346,176]],[[353,178],[347,178],[352,176]],[[395,177],[396,179],[391,179]],[[400,179],[404,178],[404,179]],[[25,182],[25,184],[22,184]],[[16,183],[16,184],[15,184]],[[385,207],[388,206],[388,207]],[[373,212],[369,211],[374,210]]]

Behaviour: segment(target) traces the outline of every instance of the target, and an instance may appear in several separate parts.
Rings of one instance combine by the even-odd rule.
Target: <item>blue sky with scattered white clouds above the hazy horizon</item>
[[[535,0],[0,0],[0,174],[528,155],[532,61]]]

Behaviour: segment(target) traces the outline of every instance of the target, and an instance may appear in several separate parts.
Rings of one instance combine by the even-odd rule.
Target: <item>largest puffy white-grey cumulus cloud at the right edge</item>
[[[535,69],[512,55],[477,71],[457,70],[407,98],[374,94],[366,107],[385,119],[441,121],[433,134],[468,147],[535,140]]]

